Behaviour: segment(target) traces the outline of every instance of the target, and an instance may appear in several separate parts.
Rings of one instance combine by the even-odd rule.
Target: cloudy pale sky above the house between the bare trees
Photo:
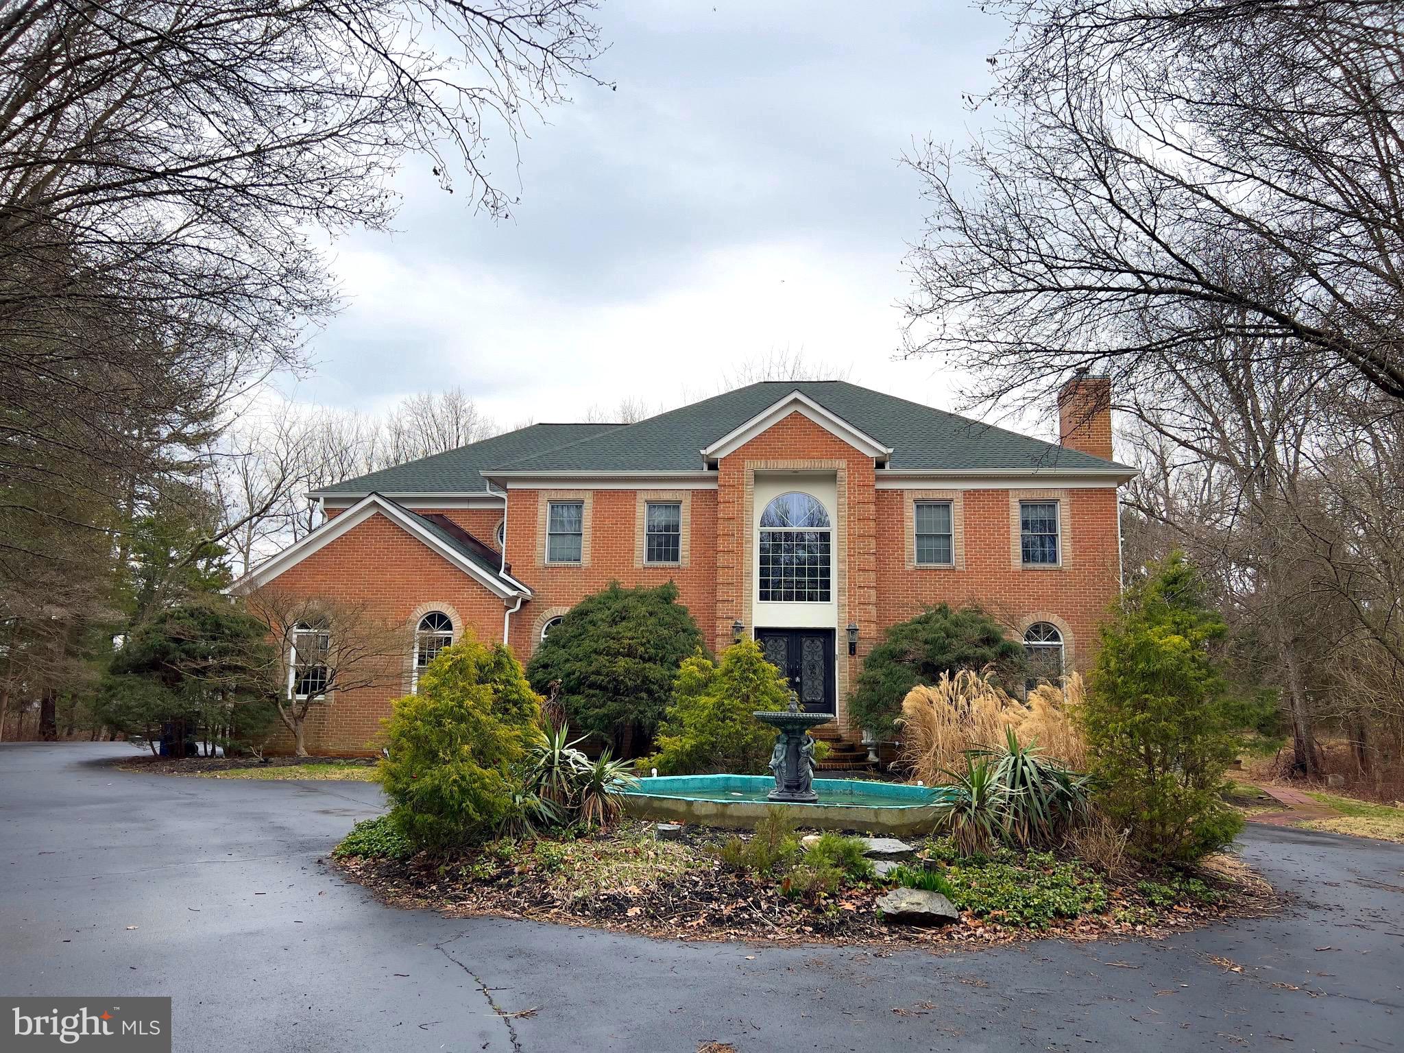
[[[345,310],[293,396],[379,410],[462,386],[503,424],[623,396],[677,406],[802,351],[934,406],[952,378],[893,361],[920,236],[899,164],[962,139],[1002,25],[966,0],[602,0],[618,90],[577,84],[521,143],[491,145],[512,219],[473,215],[411,161],[393,234],[334,246]]]

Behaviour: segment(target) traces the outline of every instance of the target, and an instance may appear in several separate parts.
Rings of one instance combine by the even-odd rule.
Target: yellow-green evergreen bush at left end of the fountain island
[[[452,851],[521,816],[514,769],[541,734],[539,702],[535,712],[525,703],[535,696],[515,658],[500,663],[487,651],[470,636],[439,651],[418,694],[399,699],[385,722],[380,783],[396,826],[417,847]]]

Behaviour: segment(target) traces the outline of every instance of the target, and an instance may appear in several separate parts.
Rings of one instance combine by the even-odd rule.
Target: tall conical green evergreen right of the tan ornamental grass
[[[1244,713],[1216,656],[1224,633],[1178,552],[1102,628],[1081,720],[1097,803],[1143,859],[1193,861],[1243,827],[1220,799]]]

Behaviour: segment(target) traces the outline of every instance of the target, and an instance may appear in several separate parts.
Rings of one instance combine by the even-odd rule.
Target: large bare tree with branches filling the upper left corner
[[[590,0],[0,11],[0,550],[66,559],[48,521],[117,538],[121,562],[149,489],[195,473],[227,409],[303,365],[306,324],[336,307],[310,234],[383,227],[407,157],[505,213],[489,138],[590,79]],[[0,590],[25,585],[3,573]]]

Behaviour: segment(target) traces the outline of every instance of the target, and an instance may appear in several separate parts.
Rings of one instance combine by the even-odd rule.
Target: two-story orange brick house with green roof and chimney
[[[1109,395],[1071,380],[1057,445],[840,380],[755,383],[628,425],[534,424],[310,494],[327,521],[234,588],[369,601],[418,630],[404,684],[312,708],[314,753],[365,751],[465,629],[525,663],[611,580],[675,581],[715,649],[753,635],[852,741],[863,656],[935,602],[981,605],[1050,675],[1087,664],[1133,475],[1112,461]]]

